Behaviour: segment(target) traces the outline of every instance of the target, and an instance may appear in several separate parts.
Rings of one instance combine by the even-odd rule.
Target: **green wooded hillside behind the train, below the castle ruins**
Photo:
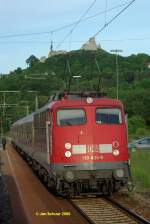
[[[95,59],[98,62],[98,72]],[[68,61],[68,64],[66,63]],[[9,125],[24,116],[27,111],[35,109],[35,96],[38,92],[39,106],[42,106],[49,96],[57,90],[68,87],[71,75],[80,75],[81,78],[72,78],[71,90],[97,90],[98,80],[100,87],[108,96],[116,97],[116,56],[104,50],[72,51],[66,55],[57,55],[48,58],[44,63],[35,56],[27,59],[28,68],[17,68],[9,75],[0,79],[0,90],[17,90],[20,93],[0,93],[1,105],[18,104],[3,109],[0,116],[3,119],[5,130]],[[130,137],[142,136],[150,129],[150,56],[146,54],[118,56],[119,64],[119,99],[123,101],[129,117]],[[70,72],[69,72],[70,67]],[[41,79],[43,77],[43,79]],[[28,102],[27,102],[28,101]]]

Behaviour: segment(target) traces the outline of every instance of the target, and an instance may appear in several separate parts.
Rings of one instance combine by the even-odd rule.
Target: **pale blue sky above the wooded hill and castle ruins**
[[[53,32],[53,34],[51,31],[77,21],[92,2],[93,0],[1,0],[0,73],[9,73],[17,67],[25,68],[25,61],[31,54],[39,58],[47,56],[51,41],[54,42],[54,50],[79,49],[83,43],[125,7],[122,4],[130,2],[130,0],[95,1],[85,17],[97,13],[99,15],[79,23],[72,34],[58,46],[58,43],[64,39],[73,26]],[[107,13],[100,14],[106,9],[108,10]],[[136,0],[112,24],[96,36],[96,41],[107,51],[122,49],[122,54],[125,56],[137,53],[150,54],[149,24],[150,1]],[[36,32],[49,33],[6,37],[7,35]]]

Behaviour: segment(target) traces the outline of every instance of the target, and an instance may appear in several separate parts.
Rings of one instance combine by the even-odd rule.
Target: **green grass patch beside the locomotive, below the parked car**
[[[131,152],[130,156],[133,181],[150,189],[150,150],[136,150]]]

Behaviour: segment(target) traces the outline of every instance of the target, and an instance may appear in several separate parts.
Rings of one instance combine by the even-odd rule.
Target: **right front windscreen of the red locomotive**
[[[121,110],[119,108],[98,108],[96,109],[97,124],[121,124]]]

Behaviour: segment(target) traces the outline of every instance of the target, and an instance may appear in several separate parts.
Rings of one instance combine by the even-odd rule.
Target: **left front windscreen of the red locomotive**
[[[57,124],[59,126],[82,125],[86,123],[83,109],[60,109],[57,111]]]

